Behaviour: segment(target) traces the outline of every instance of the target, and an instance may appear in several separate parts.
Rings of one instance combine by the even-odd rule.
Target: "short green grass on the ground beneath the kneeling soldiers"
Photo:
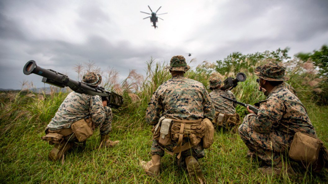
[[[84,151],[72,150],[62,161],[47,158],[52,146],[42,141],[44,128],[51,119],[65,95],[58,100],[29,101],[30,105],[16,106],[18,110],[8,119],[1,119],[1,167],[0,180],[4,183],[190,183],[187,173],[175,164],[175,158],[165,155],[162,159],[161,174],[158,177],[145,175],[139,168],[140,160],[149,160],[151,148],[151,126],[146,125],[142,116],[115,115],[111,139],[120,143],[107,149],[98,149],[100,136],[87,141]],[[26,100],[26,99],[25,99]],[[17,102],[17,100],[16,100]],[[15,105],[15,104],[12,104]],[[17,105],[17,104],[16,104]],[[319,138],[327,145],[326,120],[328,107],[305,102],[312,123]],[[36,108],[39,107],[40,108]],[[49,107],[44,109],[43,107]],[[21,115],[20,113],[28,114]],[[41,122],[39,109],[49,111],[47,121]],[[22,111],[22,112],[20,112]],[[2,109],[2,112],[3,109]],[[140,112],[141,113],[141,112]],[[33,116],[34,115],[34,116]],[[8,114],[7,114],[8,116]],[[8,123],[9,119],[17,118]],[[36,120],[36,117],[37,120]],[[48,119],[47,119],[48,118]],[[134,121],[131,121],[131,120]],[[124,122],[130,120],[129,123]],[[7,121],[6,123],[4,121]],[[247,148],[237,133],[219,131],[215,142],[200,159],[203,173],[208,183],[326,183],[327,170],[319,175],[299,170],[297,177],[275,179],[257,172],[259,163],[246,157]]]

